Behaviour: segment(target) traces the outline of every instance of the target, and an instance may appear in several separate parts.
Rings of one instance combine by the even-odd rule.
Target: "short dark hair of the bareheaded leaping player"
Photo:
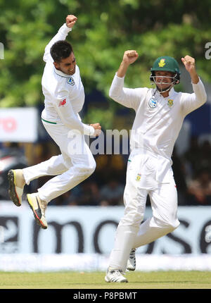
[[[65,40],[59,40],[51,47],[51,57],[54,62],[59,63],[62,59],[68,58],[72,53],[72,46]]]

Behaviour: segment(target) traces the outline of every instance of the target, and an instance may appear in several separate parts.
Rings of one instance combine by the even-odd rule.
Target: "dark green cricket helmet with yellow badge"
[[[175,74],[175,80],[178,80],[179,82],[179,75],[180,75],[180,70],[179,70],[179,64],[177,60],[170,56],[161,56],[155,60],[153,63],[153,67],[151,68],[151,81],[153,81],[153,76],[155,75],[155,70],[165,70],[169,71]],[[175,82],[175,84],[177,84]]]

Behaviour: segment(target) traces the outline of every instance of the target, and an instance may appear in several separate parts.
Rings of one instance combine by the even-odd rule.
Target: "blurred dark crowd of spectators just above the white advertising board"
[[[6,178],[8,169],[25,167],[28,164],[27,157],[24,160],[24,150],[25,147],[21,144],[1,144],[0,146],[0,199],[9,199]],[[33,147],[33,150],[35,150],[33,164],[58,154],[52,142],[38,144]],[[15,155],[19,163],[14,162]],[[10,156],[13,161],[6,166],[4,162],[8,162]],[[123,204],[128,155],[98,154],[94,157],[96,160],[94,174],[69,192],[51,201],[49,205],[117,206]],[[172,161],[179,205],[211,205],[210,142],[205,140],[199,143],[198,137],[192,137],[190,146],[184,154],[178,155],[177,149],[174,148]],[[26,186],[25,192],[37,191],[37,188],[46,183],[49,178],[52,177],[42,177],[32,181],[29,186]],[[147,205],[149,203],[148,199]]]

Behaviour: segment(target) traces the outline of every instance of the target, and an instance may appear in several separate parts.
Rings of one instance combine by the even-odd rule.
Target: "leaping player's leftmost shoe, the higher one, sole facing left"
[[[25,185],[22,169],[11,169],[8,171],[8,183],[8,193],[11,200],[16,206],[20,206],[22,203],[23,187]]]

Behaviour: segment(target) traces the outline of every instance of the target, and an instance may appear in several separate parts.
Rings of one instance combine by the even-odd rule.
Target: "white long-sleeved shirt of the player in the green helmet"
[[[203,83],[199,80],[193,84],[193,94],[175,92],[172,87],[169,97],[164,98],[156,89],[125,88],[124,77],[119,78],[115,74],[109,96],[136,111],[130,137],[131,154],[153,156],[156,160],[156,180],[165,183],[167,171],[172,166],[174,143],[184,118],[207,99]]]

